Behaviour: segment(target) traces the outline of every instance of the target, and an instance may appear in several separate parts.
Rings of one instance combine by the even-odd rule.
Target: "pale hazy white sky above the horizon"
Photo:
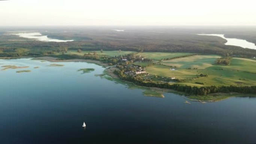
[[[256,25],[254,0],[7,0],[6,25]]]

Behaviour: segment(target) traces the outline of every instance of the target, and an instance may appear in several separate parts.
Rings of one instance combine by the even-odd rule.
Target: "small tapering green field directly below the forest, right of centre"
[[[176,56],[190,55],[192,53],[180,53],[180,52],[141,52],[138,56],[143,56],[144,58],[150,58],[154,60],[161,60],[164,58],[173,58]]]

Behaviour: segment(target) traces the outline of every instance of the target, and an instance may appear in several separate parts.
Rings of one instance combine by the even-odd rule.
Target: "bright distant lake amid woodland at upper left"
[[[25,37],[27,39],[36,39],[36,40],[40,40],[43,42],[71,42],[71,41],[74,41],[74,40],[51,39],[51,38],[48,38],[47,36],[42,36],[41,33],[18,33],[18,34],[13,34],[13,35]]]

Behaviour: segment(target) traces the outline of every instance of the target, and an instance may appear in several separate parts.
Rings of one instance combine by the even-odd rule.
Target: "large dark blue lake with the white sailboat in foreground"
[[[5,65],[29,67],[0,70],[1,144],[256,143],[255,98],[184,104],[95,76],[105,68],[86,62],[0,59]]]

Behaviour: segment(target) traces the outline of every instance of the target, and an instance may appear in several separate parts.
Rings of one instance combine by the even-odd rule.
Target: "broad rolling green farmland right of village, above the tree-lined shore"
[[[256,61],[245,58],[233,58],[230,66],[213,65],[216,55],[197,55],[187,58],[173,59],[163,61],[165,65],[152,65],[146,68],[146,72],[162,77],[176,77],[176,79],[187,79],[180,85],[191,86],[252,86],[256,85]],[[176,70],[170,70],[170,66],[179,67]],[[198,69],[186,69],[189,68]],[[196,75],[208,74],[207,77]],[[193,79],[191,79],[193,78]],[[203,83],[203,84],[198,84]]]

